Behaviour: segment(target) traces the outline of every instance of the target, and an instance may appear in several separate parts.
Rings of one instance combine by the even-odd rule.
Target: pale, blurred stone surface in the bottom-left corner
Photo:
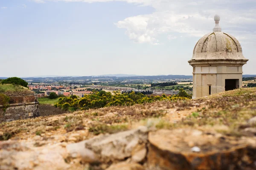
[[[65,149],[59,145],[32,147],[16,141],[0,142],[0,170],[66,170]]]

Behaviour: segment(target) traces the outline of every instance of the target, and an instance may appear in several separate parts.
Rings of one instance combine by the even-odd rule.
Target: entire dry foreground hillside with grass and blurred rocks
[[[256,88],[0,124],[1,170],[255,170]]]

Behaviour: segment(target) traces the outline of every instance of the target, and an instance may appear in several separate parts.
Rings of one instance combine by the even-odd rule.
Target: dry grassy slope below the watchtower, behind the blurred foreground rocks
[[[115,133],[146,125],[152,128],[186,128],[217,131],[240,137],[247,120],[256,115],[256,88],[236,89],[190,101],[159,101],[132,107],[90,109],[64,115],[38,117],[0,124],[0,137],[45,137],[89,130],[91,135]],[[47,128],[46,128],[47,127]]]

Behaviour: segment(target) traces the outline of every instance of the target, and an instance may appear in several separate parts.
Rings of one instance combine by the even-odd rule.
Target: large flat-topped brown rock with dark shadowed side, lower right
[[[256,147],[198,130],[158,130],[148,135],[151,170],[253,170]],[[200,148],[192,152],[191,146]]]

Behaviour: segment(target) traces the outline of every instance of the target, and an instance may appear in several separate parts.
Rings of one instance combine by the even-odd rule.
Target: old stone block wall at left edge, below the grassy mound
[[[38,98],[34,94],[9,96],[9,105],[0,105],[0,122],[9,122],[18,119],[35,118],[40,116]]]

